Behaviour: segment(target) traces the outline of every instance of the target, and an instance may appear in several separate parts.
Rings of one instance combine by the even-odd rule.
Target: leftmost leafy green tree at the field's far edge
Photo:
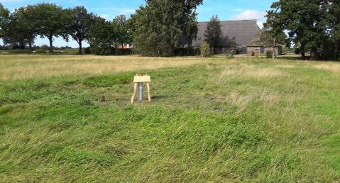
[[[10,16],[4,42],[19,45],[22,49],[28,44],[32,52],[32,46],[37,35],[34,13],[33,6],[16,9]]]

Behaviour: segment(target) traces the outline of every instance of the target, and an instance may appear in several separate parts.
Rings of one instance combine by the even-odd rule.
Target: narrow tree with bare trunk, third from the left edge
[[[92,24],[92,14],[87,13],[84,6],[71,9],[72,17],[67,28],[68,33],[79,45],[79,54],[82,55],[82,41],[87,40],[87,35]]]

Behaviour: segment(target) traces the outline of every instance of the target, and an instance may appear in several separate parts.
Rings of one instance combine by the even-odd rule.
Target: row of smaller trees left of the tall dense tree
[[[66,41],[72,38],[79,44],[79,54],[82,54],[84,41],[91,45],[95,53],[103,53],[101,48],[117,48],[132,41],[124,15],[106,21],[94,13],[88,13],[84,6],[62,9],[61,6],[47,3],[28,5],[10,13],[0,4],[0,38],[5,45],[17,48],[28,46],[32,50],[38,36],[48,38],[51,53],[55,38]]]

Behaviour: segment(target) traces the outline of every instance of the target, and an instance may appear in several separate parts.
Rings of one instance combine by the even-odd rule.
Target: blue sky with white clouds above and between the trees
[[[265,22],[265,11],[270,9],[273,1],[275,0],[204,0],[203,5],[197,8],[197,18],[198,21],[209,21],[213,15],[218,15],[221,21],[256,19],[258,26],[262,28],[262,23]],[[129,17],[139,6],[145,4],[144,0],[0,0],[0,2],[11,12],[21,6],[41,2],[55,3],[64,8],[85,6],[89,12],[110,21],[121,14]],[[53,44],[57,47],[65,45],[72,48],[79,47],[74,40],[66,43],[61,38],[56,38]],[[35,45],[48,45],[48,40],[37,38]],[[87,43],[83,45],[88,46]]]

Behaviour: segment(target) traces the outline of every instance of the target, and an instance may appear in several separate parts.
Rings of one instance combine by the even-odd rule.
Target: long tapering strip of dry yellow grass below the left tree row
[[[209,62],[197,57],[131,57],[94,55],[1,55],[0,79],[5,81],[81,74],[155,70]]]

